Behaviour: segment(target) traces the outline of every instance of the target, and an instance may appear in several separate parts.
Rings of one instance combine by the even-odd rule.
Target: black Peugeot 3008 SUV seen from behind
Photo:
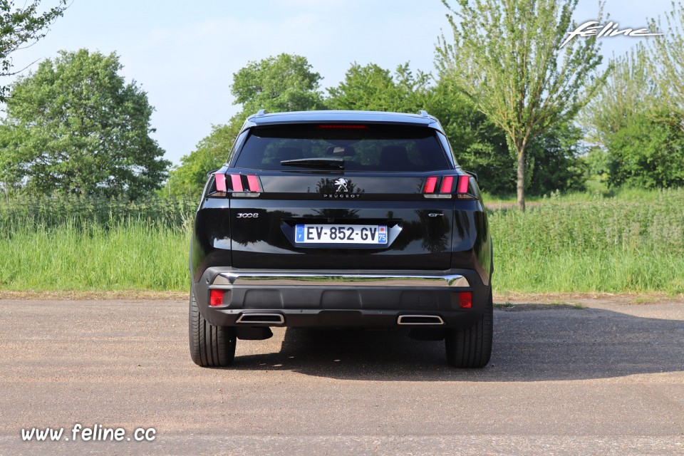
[[[190,245],[190,354],[229,366],[270,326],[410,328],[447,361],[492,352],[477,177],[419,114],[252,115],[209,175]]]

